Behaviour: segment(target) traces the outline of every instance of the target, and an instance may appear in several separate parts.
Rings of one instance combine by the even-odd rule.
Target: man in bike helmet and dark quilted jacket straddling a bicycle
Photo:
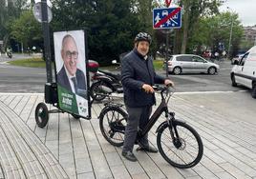
[[[156,103],[155,83],[173,85],[169,79],[156,74],[152,59],[147,56],[151,37],[145,32],[139,32],[135,38],[134,50],[129,52],[121,61],[121,83],[123,85],[124,103],[128,111],[128,122],[125,128],[122,155],[130,160],[137,161],[133,154],[137,138],[138,127],[143,129],[149,119],[152,106]],[[148,152],[158,152],[158,149],[149,145],[148,134],[139,141],[140,149]]]

